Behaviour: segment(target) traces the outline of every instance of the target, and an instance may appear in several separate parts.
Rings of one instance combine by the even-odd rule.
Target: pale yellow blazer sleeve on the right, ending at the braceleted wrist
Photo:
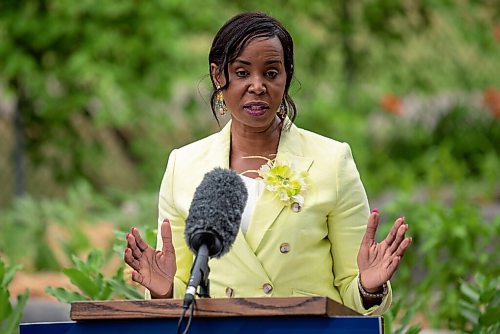
[[[382,314],[392,300],[392,291],[382,303],[363,307],[358,289],[357,255],[370,213],[365,189],[352,158],[349,145],[342,143],[337,166],[337,201],[328,215],[328,235],[333,258],[334,285],[343,303],[362,314]]]

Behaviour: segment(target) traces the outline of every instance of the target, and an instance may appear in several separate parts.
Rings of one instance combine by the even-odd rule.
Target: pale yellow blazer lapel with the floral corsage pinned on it
[[[308,171],[313,163],[313,159],[302,156],[300,133],[293,124],[288,131],[281,133],[276,161],[292,162],[297,171]],[[246,241],[254,252],[280,213],[290,209],[287,206],[274,193],[264,189],[255,204],[250,226],[245,234]]]

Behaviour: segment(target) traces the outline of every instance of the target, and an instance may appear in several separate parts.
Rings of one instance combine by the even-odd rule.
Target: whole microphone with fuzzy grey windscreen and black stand
[[[208,259],[226,254],[236,239],[247,189],[234,171],[215,168],[196,188],[186,219],[185,239],[196,254],[184,295],[183,308],[193,302],[198,286],[200,297],[210,297]]]

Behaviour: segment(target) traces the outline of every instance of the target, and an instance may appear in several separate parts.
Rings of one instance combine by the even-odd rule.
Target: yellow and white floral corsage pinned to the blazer
[[[266,189],[274,192],[285,204],[290,205],[294,212],[299,212],[304,205],[304,193],[307,191],[307,172],[297,171],[295,163],[289,161],[276,162],[275,159],[268,159],[256,172],[264,181]]]

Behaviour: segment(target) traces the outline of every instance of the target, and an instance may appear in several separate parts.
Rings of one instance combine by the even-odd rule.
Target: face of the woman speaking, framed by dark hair
[[[283,47],[277,37],[256,38],[229,64],[229,85],[223,91],[233,125],[265,130],[274,123],[285,93]],[[212,75],[223,86],[224,75]]]

